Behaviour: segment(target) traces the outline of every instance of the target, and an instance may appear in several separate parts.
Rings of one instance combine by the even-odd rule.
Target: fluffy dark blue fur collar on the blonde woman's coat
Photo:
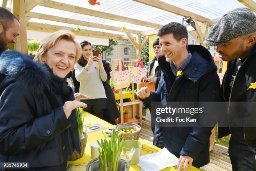
[[[3,84],[8,85],[8,82],[17,82],[33,92],[42,92],[48,87],[51,75],[46,66],[34,62],[31,56],[18,51],[4,51],[1,54],[0,74],[5,76],[0,87]]]

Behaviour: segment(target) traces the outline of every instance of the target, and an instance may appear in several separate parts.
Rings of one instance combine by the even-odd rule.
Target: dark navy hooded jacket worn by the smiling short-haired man
[[[162,77],[156,92],[151,92],[143,102],[218,102],[220,101],[220,80],[217,67],[206,48],[189,45],[192,54],[184,76],[177,78],[169,63],[159,61]],[[190,156],[193,166],[209,163],[209,139],[213,127],[163,127],[164,147],[175,156]]]

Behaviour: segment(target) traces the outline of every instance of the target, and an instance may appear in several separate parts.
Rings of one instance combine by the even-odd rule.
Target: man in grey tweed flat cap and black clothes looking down
[[[222,92],[228,104],[229,127],[219,128],[219,138],[231,133],[229,155],[233,171],[256,171],[256,120],[251,119],[254,125],[248,124],[251,117],[256,117],[255,111],[248,112],[256,102],[255,14],[248,8],[228,12],[210,28],[204,43],[217,46],[220,58],[228,61]],[[235,115],[235,102],[246,102],[240,116]],[[245,118],[243,125],[238,125],[236,120],[241,117]]]

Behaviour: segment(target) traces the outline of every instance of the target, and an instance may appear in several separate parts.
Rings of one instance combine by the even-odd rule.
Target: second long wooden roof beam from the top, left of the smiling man
[[[26,16],[31,17],[31,18],[39,18],[39,19],[43,19],[43,20],[57,21],[57,22],[61,22],[61,23],[69,23],[69,24],[74,24],[74,25],[79,25],[79,26],[101,28],[101,29],[111,30],[111,31],[120,31],[121,30],[120,27],[91,23],[91,22],[81,21],[81,20],[74,20],[74,19],[70,19],[70,18],[63,18],[63,17],[58,17],[58,16],[54,16],[54,15],[46,15],[46,14],[41,14],[41,13],[29,12],[29,13],[27,13]],[[126,32],[138,34],[141,31],[126,29]]]

